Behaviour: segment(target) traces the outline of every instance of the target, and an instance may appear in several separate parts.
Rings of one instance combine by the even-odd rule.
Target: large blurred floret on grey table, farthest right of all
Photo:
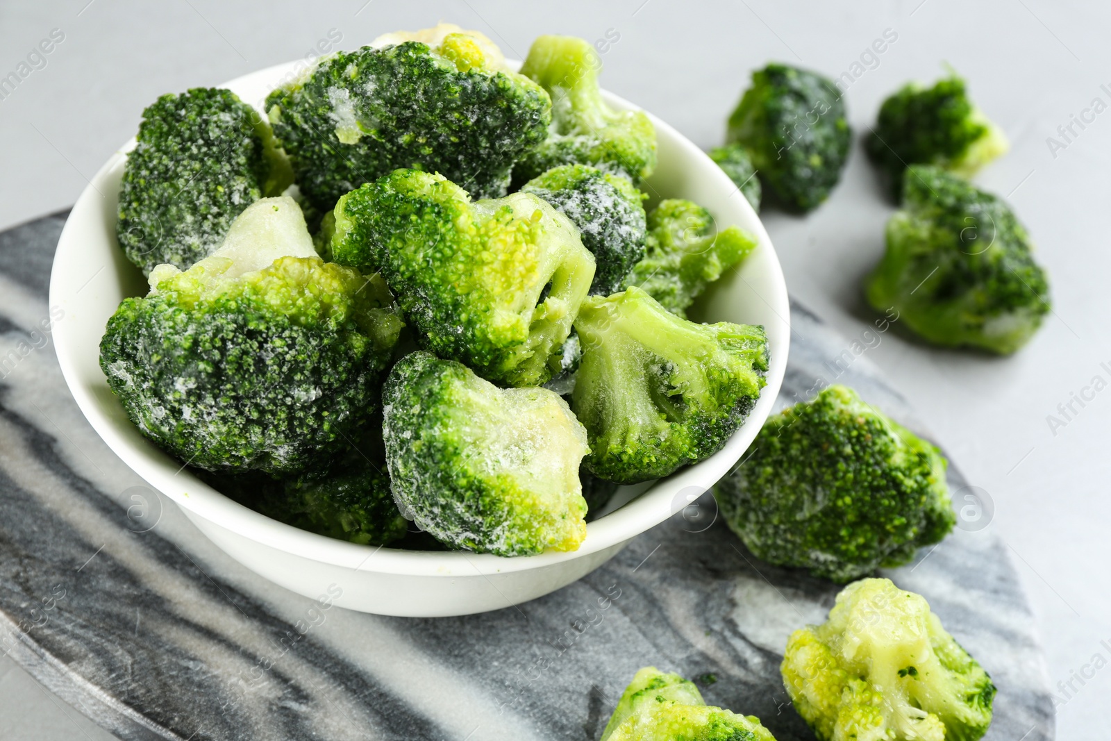
[[[1021,348],[1050,311],[1049,281],[1014,212],[995,196],[930,166],[903,176],[903,209],[864,282],[869,303],[894,308],[925,340],[998,353]]]

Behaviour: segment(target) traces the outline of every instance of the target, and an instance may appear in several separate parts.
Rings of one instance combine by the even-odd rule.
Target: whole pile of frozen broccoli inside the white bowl
[[[599,69],[541,37],[518,74],[441,26],[321,59],[269,123],[227,91],[160,99],[121,246],[137,219],[206,239],[147,256],[108,322],[124,411],[274,519],[499,555],[574,550],[619,483],[720,450],[767,339],[684,310],[755,241],[690,201],[645,213],[654,128]]]

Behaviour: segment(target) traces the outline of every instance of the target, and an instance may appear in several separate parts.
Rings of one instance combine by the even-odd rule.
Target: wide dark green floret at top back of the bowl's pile
[[[396,168],[503,196],[513,162],[544,140],[551,120],[548,93],[492,69],[466,33],[436,49],[407,41],[337,52],[270,93],[267,110],[298,187],[321,211]]]

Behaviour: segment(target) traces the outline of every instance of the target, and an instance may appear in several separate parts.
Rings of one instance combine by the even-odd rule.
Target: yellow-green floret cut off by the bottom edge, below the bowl
[[[755,715],[707,705],[693,682],[644,667],[625,688],[601,741],[775,741]]]

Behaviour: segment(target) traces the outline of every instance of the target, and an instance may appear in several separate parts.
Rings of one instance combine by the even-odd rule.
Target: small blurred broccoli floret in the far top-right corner
[[[909,164],[937,164],[969,177],[1007,147],[1007,137],[972,104],[955,74],[932,88],[909,82],[884,100],[867,144],[897,192]]]

